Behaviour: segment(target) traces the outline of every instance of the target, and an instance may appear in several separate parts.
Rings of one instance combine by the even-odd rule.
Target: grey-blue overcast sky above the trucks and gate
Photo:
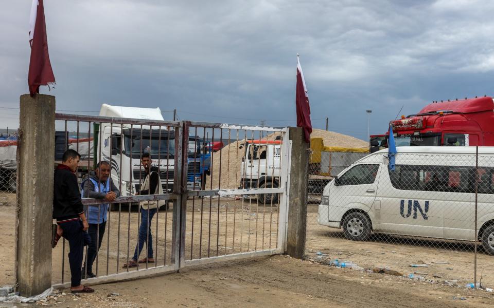
[[[28,93],[30,0],[2,1],[0,128]],[[312,124],[366,140],[433,100],[494,95],[494,2],[45,0],[57,110],[177,109],[180,120]],[[93,111],[93,112],[90,112]],[[66,111],[64,111],[66,112]],[[68,113],[68,112],[67,112]],[[73,112],[75,113],[75,112]],[[172,112],[164,118],[172,119]]]

